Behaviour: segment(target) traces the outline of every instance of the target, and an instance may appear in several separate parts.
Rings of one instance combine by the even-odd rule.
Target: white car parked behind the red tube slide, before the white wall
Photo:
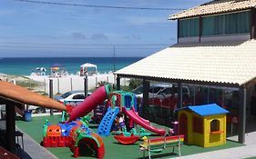
[[[88,93],[90,95],[91,93]],[[65,100],[68,99],[85,99],[85,92],[84,91],[68,91],[65,94],[56,95],[54,99],[63,104]]]

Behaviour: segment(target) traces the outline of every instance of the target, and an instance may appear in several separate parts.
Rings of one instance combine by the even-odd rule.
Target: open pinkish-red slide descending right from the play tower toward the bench
[[[154,127],[153,125],[147,123],[146,119],[143,119],[142,117],[138,116],[138,114],[136,114],[136,112],[134,111],[134,109],[131,110],[126,110],[125,107],[123,107],[122,109],[123,113],[127,114],[128,117],[136,124],[141,125],[142,127],[144,127],[145,129],[148,129],[149,131],[156,133],[156,134],[160,134],[161,136],[166,134],[166,130],[165,129],[158,129],[157,127]]]

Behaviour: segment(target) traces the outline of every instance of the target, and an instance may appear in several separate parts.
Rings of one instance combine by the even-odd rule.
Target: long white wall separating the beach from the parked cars
[[[64,94],[67,91],[84,90],[85,76],[66,75],[49,77],[48,75],[15,76],[0,74],[0,79],[11,83],[27,83],[27,88],[34,92],[49,94],[49,81],[53,80],[53,94]],[[39,85],[33,86],[37,82]],[[88,90],[94,90],[98,83],[116,84],[116,75],[113,73],[87,76]],[[31,83],[31,84],[30,84]],[[121,85],[128,85],[129,79],[121,78]],[[31,86],[30,86],[31,85]]]

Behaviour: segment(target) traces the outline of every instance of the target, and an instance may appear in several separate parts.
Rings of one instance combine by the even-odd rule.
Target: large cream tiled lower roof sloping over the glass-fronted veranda
[[[256,40],[172,45],[116,74],[242,85],[256,77]]]

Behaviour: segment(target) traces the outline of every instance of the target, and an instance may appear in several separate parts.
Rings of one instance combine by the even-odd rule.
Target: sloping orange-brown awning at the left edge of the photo
[[[66,106],[52,100],[49,97],[33,93],[22,86],[5,81],[0,81],[0,97],[4,97],[7,100],[12,100],[22,104],[32,104],[66,111]]]

